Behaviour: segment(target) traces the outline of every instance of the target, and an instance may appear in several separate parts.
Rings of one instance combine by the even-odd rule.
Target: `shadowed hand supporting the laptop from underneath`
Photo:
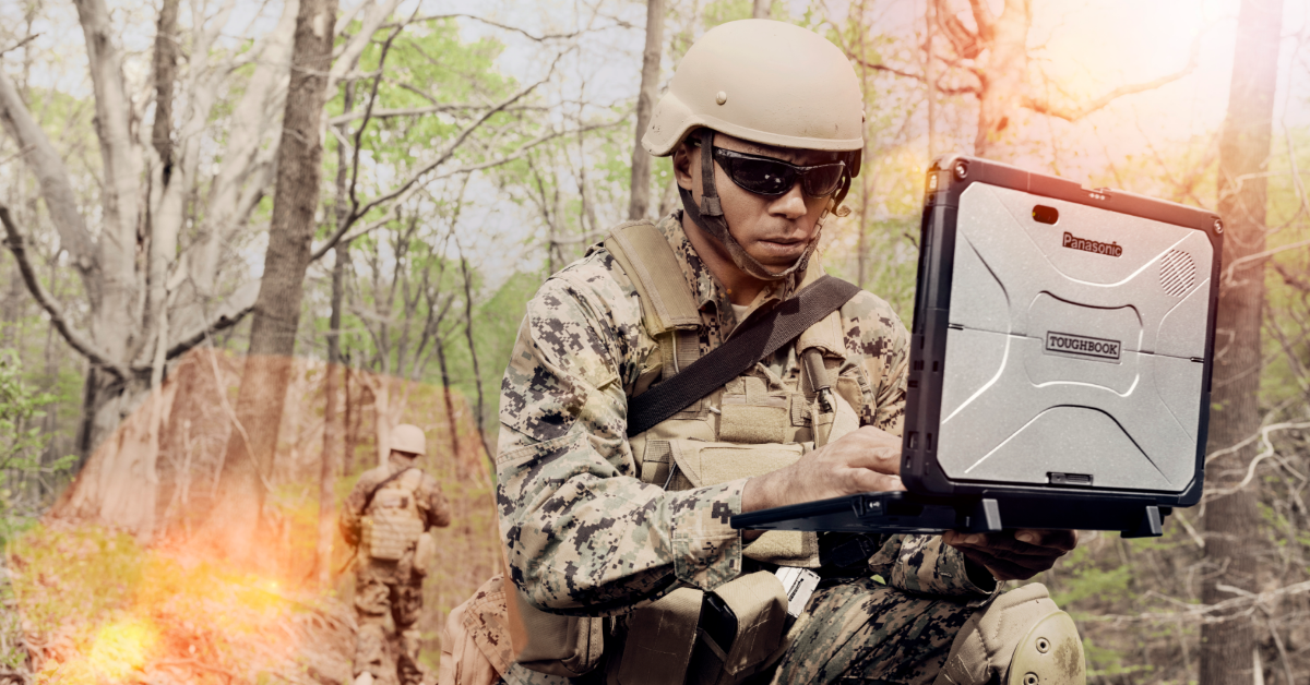
[[[962,533],[947,530],[942,542],[964,553],[964,558],[986,568],[997,580],[1027,580],[1056,565],[1056,559],[1078,546],[1077,530],[1002,530]]]

